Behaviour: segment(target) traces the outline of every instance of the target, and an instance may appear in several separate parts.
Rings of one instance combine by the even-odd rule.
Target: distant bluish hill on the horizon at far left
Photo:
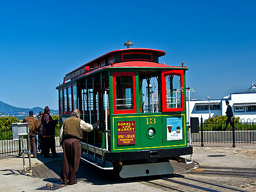
[[[9,116],[28,115],[30,110],[33,110],[34,114],[38,114],[39,112],[44,112],[44,109],[42,107],[33,107],[32,109],[14,107],[0,100],[0,114],[2,115],[9,115]],[[51,110],[51,114],[58,114],[58,110],[53,110],[53,109],[50,109],[50,110]]]

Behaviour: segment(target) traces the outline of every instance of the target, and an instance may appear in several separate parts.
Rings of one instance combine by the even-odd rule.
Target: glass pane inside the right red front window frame
[[[181,77],[166,76],[166,104],[167,108],[181,108]]]

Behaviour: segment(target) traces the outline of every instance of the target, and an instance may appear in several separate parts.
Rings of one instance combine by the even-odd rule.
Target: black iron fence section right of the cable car
[[[192,143],[212,144],[256,144],[256,119],[247,122],[240,120],[235,122],[232,119],[233,126],[230,124],[225,128],[226,122],[206,122],[201,118],[199,124],[199,133],[191,134]],[[188,137],[189,138],[189,137]]]

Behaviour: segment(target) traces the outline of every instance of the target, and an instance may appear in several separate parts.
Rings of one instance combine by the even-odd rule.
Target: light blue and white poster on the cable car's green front
[[[166,118],[167,140],[182,140],[182,117]]]

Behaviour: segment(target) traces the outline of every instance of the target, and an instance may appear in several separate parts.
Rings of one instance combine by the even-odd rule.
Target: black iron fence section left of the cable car
[[[56,147],[61,147],[59,142],[59,133],[60,125],[55,127],[55,143]],[[25,139],[25,148],[27,148],[26,136],[23,136]],[[9,155],[9,154],[18,154],[21,155],[22,152],[22,143],[21,140],[13,140],[12,126],[1,127],[0,129],[0,156]]]

